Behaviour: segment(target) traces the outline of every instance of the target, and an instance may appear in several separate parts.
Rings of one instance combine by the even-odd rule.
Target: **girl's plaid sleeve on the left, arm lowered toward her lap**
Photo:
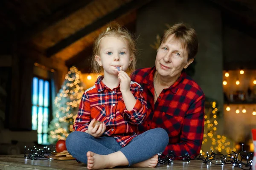
[[[90,102],[86,93],[83,94],[73,130],[85,132],[91,122]]]

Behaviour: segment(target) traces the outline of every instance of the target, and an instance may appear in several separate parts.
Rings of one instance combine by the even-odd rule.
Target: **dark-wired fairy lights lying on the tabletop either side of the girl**
[[[38,160],[38,159],[51,159],[52,152],[55,153],[55,147],[49,146],[44,147],[44,149],[37,149],[34,147],[24,147],[24,158],[31,159],[31,160]],[[203,164],[211,165],[224,165],[224,164],[232,164],[233,167],[239,167],[242,170],[250,170],[253,164],[253,154],[247,153],[245,150],[241,150],[240,152],[236,153],[232,150],[232,153],[223,155],[223,154],[216,154],[212,151],[211,153],[206,156],[191,156],[189,154],[184,154],[183,156],[175,156],[173,151],[171,151],[166,156],[163,156],[162,153],[158,154],[158,164],[172,164],[175,159],[180,159],[184,161],[190,162],[191,160],[200,160]]]

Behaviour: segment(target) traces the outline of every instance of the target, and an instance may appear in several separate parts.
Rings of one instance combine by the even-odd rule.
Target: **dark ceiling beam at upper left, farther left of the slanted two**
[[[27,31],[25,33],[24,33],[24,29],[18,30],[20,32],[17,35],[19,35],[20,37],[17,37],[17,38],[23,41],[29,40],[30,37],[43,31],[44,29],[58,22],[59,20],[64,19],[65,17],[69,16],[73,12],[79,10],[80,8],[87,6],[92,1],[93,0],[71,1],[64,7],[61,6],[57,11],[55,11],[54,14],[48,16],[47,18],[44,18],[44,20],[41,20],[36,26],[33,25],[30,28],[26,28]]]

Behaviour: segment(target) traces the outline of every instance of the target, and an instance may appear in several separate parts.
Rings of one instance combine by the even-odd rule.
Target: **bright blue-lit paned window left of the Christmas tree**
[[[38,131],[38,144],[48,144],[50,83],[38,77],[32,82],[32,130]]]

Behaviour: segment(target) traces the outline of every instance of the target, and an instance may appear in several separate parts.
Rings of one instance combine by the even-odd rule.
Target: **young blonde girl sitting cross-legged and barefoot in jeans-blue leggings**
[[[96,39],[93,50],[93,68],[102,69],[104,76],[82,96],[75,131],[66,140],[68,152],[90,170],[155,167],[157,153],[163,152],[169,137],[162,128],[138,135],[146,102],[141,86],[125,72],[135,68],[134,40],[126,29],[112,24]],[[94,126],[96,121],[102,123]]]

